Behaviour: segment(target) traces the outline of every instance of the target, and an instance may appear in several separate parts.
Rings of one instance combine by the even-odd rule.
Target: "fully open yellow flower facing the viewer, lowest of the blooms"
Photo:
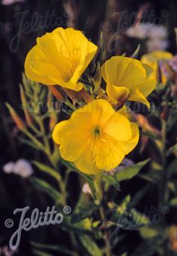
[[[139,130],[107,100],[96,99],[58,123],[52,139],[60,145],[62,158],[74,162],[81,172],[97,174],[121,163],[135,148]]]

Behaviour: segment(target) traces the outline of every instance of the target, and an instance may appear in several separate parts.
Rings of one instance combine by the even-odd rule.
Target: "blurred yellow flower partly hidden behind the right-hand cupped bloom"
[[[172,59],[172,53],[163,50],[156,50],[151,53],[142,55],[141,62],[151,66],[157,76],[158,61],[162,59]],[[166,76],[162,73],[162,83],[166,84]]]

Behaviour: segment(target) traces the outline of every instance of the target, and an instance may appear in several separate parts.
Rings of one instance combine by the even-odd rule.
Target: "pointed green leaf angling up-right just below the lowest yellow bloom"
[[[117,178],[118,181],[124,181],[133,178],[138,174],[140,169],[142,169],[142,167],[148,163],[148,161],[149,159],[136,163],[135,165],[127,167],[126,169],[122,169],[121,171],[115,172],[115,178]]]

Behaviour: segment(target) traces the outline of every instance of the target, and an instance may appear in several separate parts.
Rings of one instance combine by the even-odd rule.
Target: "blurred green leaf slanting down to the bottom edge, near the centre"
[[[89,236],[79,236],[79,239],[83,247],[86,249],[86,251],[88,251],[89,255],[102,256],[100,248],[98,248],[98,245]]]

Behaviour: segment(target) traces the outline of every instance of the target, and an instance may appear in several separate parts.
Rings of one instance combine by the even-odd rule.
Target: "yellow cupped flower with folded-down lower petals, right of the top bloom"
[[[137,59],[113,56],[101,67],[107,83],[107,95],[119,105],[125,100],[141,102],[150,107],[145,99],[156,85],[153,69]]]

